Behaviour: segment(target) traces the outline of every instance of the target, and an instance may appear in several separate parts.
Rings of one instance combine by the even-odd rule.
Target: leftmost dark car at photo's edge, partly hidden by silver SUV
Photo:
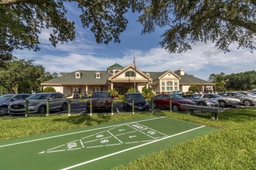
[[[9,105],[14,101],[24,100],[30,97],[31,94],[28,93],[18,93],[18,94],[4,94],[0,95],[0,115],[5,115],[8,112]]]

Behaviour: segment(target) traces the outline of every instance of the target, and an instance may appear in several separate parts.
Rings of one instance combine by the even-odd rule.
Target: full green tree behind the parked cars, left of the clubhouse
[[[12,59],[0,67],[0,87],[9,93],[41,92],[41,82],[51,80],[58,74],[45,72],[42,65],[33,65],[33,60]]]

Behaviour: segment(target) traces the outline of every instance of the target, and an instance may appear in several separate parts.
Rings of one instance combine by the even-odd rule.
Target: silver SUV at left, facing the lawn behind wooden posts
[[[51,109],[66,110],[68,103],[63,93],[35,93],[27,98],[28,113],[46,113],[47,100],[49,100],[49,107]],[[26,101],[15,101],[9,105],[8,110],[11,115],[25,114]]]

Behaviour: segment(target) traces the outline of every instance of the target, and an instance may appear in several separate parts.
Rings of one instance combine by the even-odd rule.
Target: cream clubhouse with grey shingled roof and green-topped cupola
[[[41,83],[43,88],[53,87],[56,92],[72,95],[73,93],[93,93],[116,90],[124,94],[129,88],[142,88],[149,86],[156,94],[170,93],[173,91],[188,92],[191,85],[198,86],[201,92],[213,90],[215,85],[193,75],[184,73],[184,69],[177,71],[144,72],[134,65],[122,67],[114,64],[106,71],[77,70],[72,73],[60,73],[60,76]]]

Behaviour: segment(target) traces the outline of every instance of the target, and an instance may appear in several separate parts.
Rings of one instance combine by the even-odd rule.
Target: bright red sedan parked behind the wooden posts
[[[184,99],[180,95],[167,93],[167,94],[159,94],[156,95],[153,99],[154,108],[161,108],[161,109],[169,109],[170,108],[170,99],[171,104],[173,106],[173,111],[186,111],[186,109],[181,109],[181,105],[196,105],[194,101],[189,99]]]

